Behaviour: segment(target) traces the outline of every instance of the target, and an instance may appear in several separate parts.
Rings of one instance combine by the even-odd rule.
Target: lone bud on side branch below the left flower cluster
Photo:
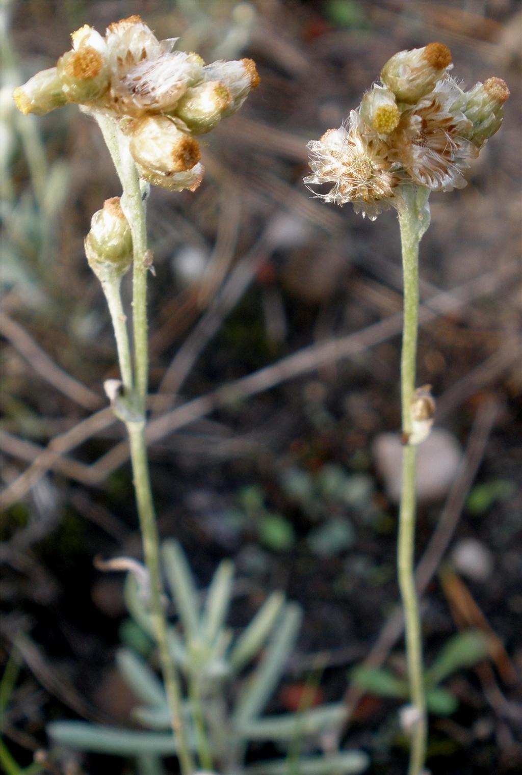
[[[130,267],[133,239],[119,197],[106,199],[102,210],[92,216],[91,229],[85,237],[85,253],[98,277],[103,267],[116,270],[117,274],[125,274]]]

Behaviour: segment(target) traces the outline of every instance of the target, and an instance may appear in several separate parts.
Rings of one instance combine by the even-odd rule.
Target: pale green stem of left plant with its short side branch
[[[130,347],[125,317],[119,297],[119,282],[104,288],[109,302],[109,312],[114,328],[119,368],[123,377],[124,391],[137,412],[137,420],[124,419],[130,440],[130,458],[133,467],[134,491],[140,518],[143,540],[143,555],[150,577],[150,609],[154,623],[161,671],[171,712],[171,726],[178,748],[178,757],[183,775],[192,775],[194,763],[188,745],[181,711],[181,685],[175,663],[168,649],[167,619],[164,612],[163,584],[161,582],[160,543],[157,533],[156,515],[150,489],[150,477],[145,442],[145,412],[148,382],[147,343],[147,224],[143,204],[145,192],[140,188],[136,165],[130,156],[126,138],[111,119],[97,117],[105,143],[123,188],[122,208],[133,238],[133,344],[134,373],[129,374]],[[110,291],[109,294],[107,291]]]

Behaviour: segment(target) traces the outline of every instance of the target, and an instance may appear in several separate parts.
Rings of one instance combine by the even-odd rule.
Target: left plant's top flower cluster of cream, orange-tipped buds
[[[105,37],[85,25],[56,67],[16,89],[22,113],[43,115],[75,102],[109,116],[129,139],[144,180],[194,191],[202,180],[195,135],[209,132],[243,105],[259,84],[250,59],[205,64],[196,53],[158,41],[140,16],[109,25]]]

